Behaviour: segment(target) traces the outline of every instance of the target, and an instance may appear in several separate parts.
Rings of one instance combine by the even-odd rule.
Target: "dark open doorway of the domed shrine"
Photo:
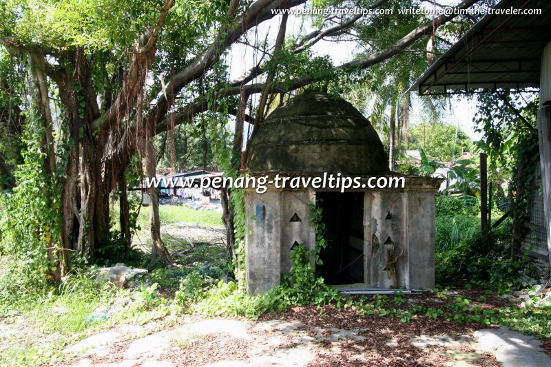
[[[364,282],[364,193],[316,192],[327,247],[316,269],[325,284]]]

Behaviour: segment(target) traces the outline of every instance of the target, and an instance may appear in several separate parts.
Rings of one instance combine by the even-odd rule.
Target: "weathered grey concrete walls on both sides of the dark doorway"
[[[309,209],[312,202],[313,190],[247,193],[247,293],[264,293],[280,284],[281,275],[291,270],[293,244],[313,249],[315,233],[310,226]],[[435,286],[434,192],[366,192],[363,219],[366,286]],[[390,255],[388,249],[393,249]]]

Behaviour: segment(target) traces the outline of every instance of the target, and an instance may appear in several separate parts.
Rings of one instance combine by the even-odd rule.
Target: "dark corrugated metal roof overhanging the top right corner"
[[[539,87],[541,52],[551,41],[550,0],[503,0],[495,8],[541,14],[488,14],[417,79],[419,94]]]

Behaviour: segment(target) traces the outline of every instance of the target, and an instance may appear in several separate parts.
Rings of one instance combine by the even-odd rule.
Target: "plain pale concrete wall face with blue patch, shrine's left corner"
[[[249,295],[264,293],[280,284],[281,206],[280,192],[249,192],[245,195],[245,258]]]

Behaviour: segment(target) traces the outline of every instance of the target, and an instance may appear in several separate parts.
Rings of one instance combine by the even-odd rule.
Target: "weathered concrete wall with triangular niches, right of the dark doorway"
[[[371,207],[371,213],[368,211]],[[430,289],[435,286],[435,194],[366,193],[366,285],[374,288]],[[397,258],[397,284],[387,250]],[[385,270],[386,267],[386,270]],[[390,276],[390,277],[389,277]]]

